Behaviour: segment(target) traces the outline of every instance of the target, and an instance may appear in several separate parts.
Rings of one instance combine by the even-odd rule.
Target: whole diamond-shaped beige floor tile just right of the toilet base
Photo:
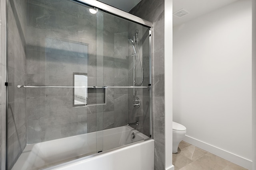
[[[206,152],[205,150],[202,150],[198,147],[195,147],[194,145],[190,145],[188,147],[180,149],[180,152],[178,152],[178,153],[189,158],[190,160],[195,161],[198,158],[201,158],[202,156],[207,154],[208,152]]]

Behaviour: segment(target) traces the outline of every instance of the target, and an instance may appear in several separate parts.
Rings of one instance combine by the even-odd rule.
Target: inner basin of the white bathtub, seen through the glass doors
[[[148,139],[146,135],[136,131],[132,127],[122,126],[30,144],[26,146],[12,170],[49,169],[47,168],[49,166],[53,166],[52,168],[54,169],[58,169],[59,167],[63,168],[69,164],[75,164],[76,161],[88,162],[89,159],[95,159],[95,157],[99,158],[102,155],[106,156],[109,151],[114,154],[114,150],[118,147],[121,150],[126,149],[126,147],[122,146],[127,145],[131,147],[132,144],[139,144],[146,139]],[[152,149],[154,152],[154,147],[152,147]],[[68,163],[63,164],[63,162]],[[56,164],[60,165],[56,167]],[[90,168],[90,170],[92,170],[92,168]]]

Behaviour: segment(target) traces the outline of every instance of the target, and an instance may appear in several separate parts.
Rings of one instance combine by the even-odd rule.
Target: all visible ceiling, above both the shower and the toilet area
[[[98,0],[125,12],[129,12],[141,0]],[[173,0],[173,13],[181,9],[186,10],[189,14],[177,18],[173,16],[173,25],[179,25],[186,21],[192,20],[203,14],[217,10],[237,0]]]

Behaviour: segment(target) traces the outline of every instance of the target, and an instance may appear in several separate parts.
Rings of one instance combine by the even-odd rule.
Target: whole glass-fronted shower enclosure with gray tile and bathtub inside
[[[76,0],[8,0],[7,13],[6,169],[152,139],[150,26]]]

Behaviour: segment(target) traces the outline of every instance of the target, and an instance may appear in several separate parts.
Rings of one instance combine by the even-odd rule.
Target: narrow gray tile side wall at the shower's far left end
[[[2,70],[3,71],[3,70]],[[26,0],[8,1],[8,169],[26,146]]]

